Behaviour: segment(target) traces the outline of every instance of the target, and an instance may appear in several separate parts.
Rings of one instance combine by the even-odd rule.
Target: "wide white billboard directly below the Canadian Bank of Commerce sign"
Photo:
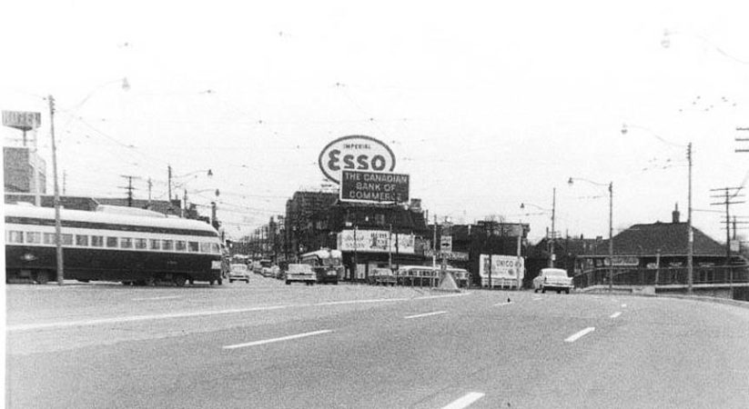
[[[390,244],[390,246],[389,246]],[[338,249],[362,253],[414,254],[413,234],[390,234],[387,230],[344,230],[338,234]]]

